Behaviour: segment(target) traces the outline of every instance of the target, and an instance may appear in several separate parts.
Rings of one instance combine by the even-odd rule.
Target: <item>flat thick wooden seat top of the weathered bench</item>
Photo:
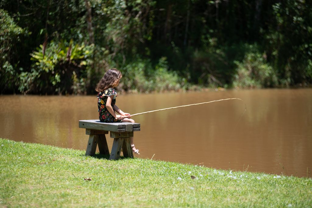
[[[135,131],[139,131],[138,130],[139,127],[140,127],[140,123],[129,123],[129,122],[103,123],[103,122],[100,122],[100,120],[80,120],[79,121],[79,128],[89,128],[89,129],[102,130],[102,131],[125,132],[125,131],[133,131],[133,128],[136,128]]]

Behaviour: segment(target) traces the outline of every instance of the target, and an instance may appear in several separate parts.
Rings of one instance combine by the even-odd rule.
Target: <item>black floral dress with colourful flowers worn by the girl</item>
[[[117,92],[113,88],[106,89],[104,92],[100,92],[97,95],[98,98],[98,111],[99,111],[99,118],[100,122],[107,122],[107,123],[115,123],[115,122],[121,122],[121,120],[115,120],[115,117],[110,114],[108,109],[106,108],[106,102],[108,96],[114,95],[114,98],[111,102],[111,106],[114,109],[114,105],[116,104],[116,97],[117,97]]]

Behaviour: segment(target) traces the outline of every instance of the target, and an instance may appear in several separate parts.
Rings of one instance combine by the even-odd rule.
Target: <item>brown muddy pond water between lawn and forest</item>
[[[138,157],[311,177],[312,89],[126,94],[116,104],[134,114],[226,98],[246,102],[242,117],[240,100],[134,116],[141,123],[134,133]],[[0,138],[63,148],[85,149],[78,121],[98,119],[96,95],[2,95],[0,106]]]

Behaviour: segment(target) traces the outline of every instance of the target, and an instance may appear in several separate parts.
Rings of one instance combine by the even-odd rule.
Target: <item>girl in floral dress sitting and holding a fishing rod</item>
[[[119,81],[122,77],[122,74],[119,70],[112,68],[108,70],[105,75],[102,77],[100,82],[96,85],[95,90],[99,93],[98,98],[98,109],[99,117],[101,122],[131,122],[134,123],[131,115],[124,113],[120,110],[116,103],[117,92],[113,87],[117,87]],[[119,115],[117,115],[117,112]],[[124,118],[127,116],[128,118]],[[132,152],[135,154],[140,154],[139,150],[134,147],[133,137],[130,137],[130,143]]]

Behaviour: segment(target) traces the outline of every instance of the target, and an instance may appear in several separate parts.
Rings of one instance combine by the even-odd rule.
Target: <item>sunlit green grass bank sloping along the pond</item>
[[[312,207],[311,178],[84,153],[0,139],[0,207]]]

